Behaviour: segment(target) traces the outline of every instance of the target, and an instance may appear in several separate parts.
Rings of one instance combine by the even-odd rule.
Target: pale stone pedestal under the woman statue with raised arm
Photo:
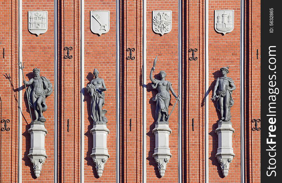
[[[171,134],[171,129],[168,127],[168,124],[163,121],[156,124],[152,132],[156,139],[156,148],[153,157],[158,164],[160,176],[164,177],[167,163],[171,158],[169,149],[169,135]]]

